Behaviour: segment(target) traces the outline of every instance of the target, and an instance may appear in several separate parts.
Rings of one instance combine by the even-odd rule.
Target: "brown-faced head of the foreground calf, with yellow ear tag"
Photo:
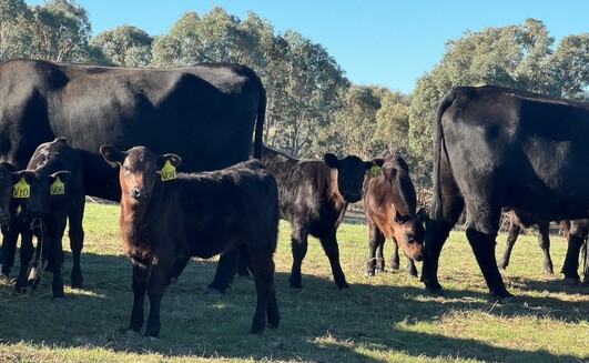
[[[161,170],[166,161],[174,168],[182,162],[176,154],[156,155],[145,147],[120,151],[112,145],[102,145],[100,153],[109,163],[120,167],[122,201],[132,205],[150,201],[153,186],[161,178]]]

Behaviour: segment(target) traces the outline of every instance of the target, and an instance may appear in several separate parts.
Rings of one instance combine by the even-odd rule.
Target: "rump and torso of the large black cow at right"
[[[545,220],[587,215],[586,104],[464,87],[446,95],[439,112],[444,158],[463,194],[500,188],[501,205],[535,211]]]

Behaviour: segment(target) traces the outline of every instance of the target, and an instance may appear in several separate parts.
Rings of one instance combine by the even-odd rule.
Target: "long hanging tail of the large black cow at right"
[[[436,139],[435,139],[435,153],[434,153],[434,203],[431,203],[431,212],[430,216],[435,218],[436,220],[440,220],[441,218],[441,184],[439,181],[439,172],[440,172],[440,164],[441,164],[441,158],[448,158],[448,152],[446,150],[446,140],[444,138],[444,129],[441,127],[441,117],[444,115],[444,112],[450,107],[450,104],[454,103],[454,101],[457,98],[457,90],[456,88],[453,88],[438,103],[438,110],[436,114]],[[444,155],[443,155],[444,153]]]

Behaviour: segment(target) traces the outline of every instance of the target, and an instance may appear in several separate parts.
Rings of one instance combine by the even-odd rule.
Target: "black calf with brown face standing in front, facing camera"
[[[158,337],[161,300],[179,256],[209,259],[229,249],[238,249],[254,274],[257,306],[252,333],[264,331],[266,314],[270,326],[278,326],[273,280],[277,186],[260,161],[176,174],[170,170],[181,162],[175,154],[156,155],[144,147],[119,151],[111,145],[101,147],[100,152],[120,167],[121,238],[133,264],[132,332],[143,325],[148,291],[145,335]]]

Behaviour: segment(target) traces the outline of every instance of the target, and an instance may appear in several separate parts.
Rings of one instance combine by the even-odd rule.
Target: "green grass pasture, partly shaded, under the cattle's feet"
[[[504,272],[518,298],[498,304],[487,295],[459,231],[441,253],[444,298],[406,276],[403,258],[400,271],[365,278],[364,224],[344,224],[338,232],[351,289],[337,289],[327,258],[311,239],[304,289],[293,290],[290,226],[281,222],[277,330],[247,333],[255,307],[251,281],[236,280],[225,295],[202,295],[216,259],[195,259],[164,295],[160,340],[128,336],[131,265],[120,246],[118,216],[118,205],[88,204],[84,289],[67,288],[64,301],[52,301],[49,273],[26,295],[1,282],[0,362],[589,362],[589,286],[565,286],[560,275],[546,274],[531,233],[519,238]],[[497,240],[498,256],[505,240]],[[389,241],[385,249],[388,254]],[[69,285],[68,239],[64,250]],[[552,236],[551,250],[559,271],[565,240]]]

